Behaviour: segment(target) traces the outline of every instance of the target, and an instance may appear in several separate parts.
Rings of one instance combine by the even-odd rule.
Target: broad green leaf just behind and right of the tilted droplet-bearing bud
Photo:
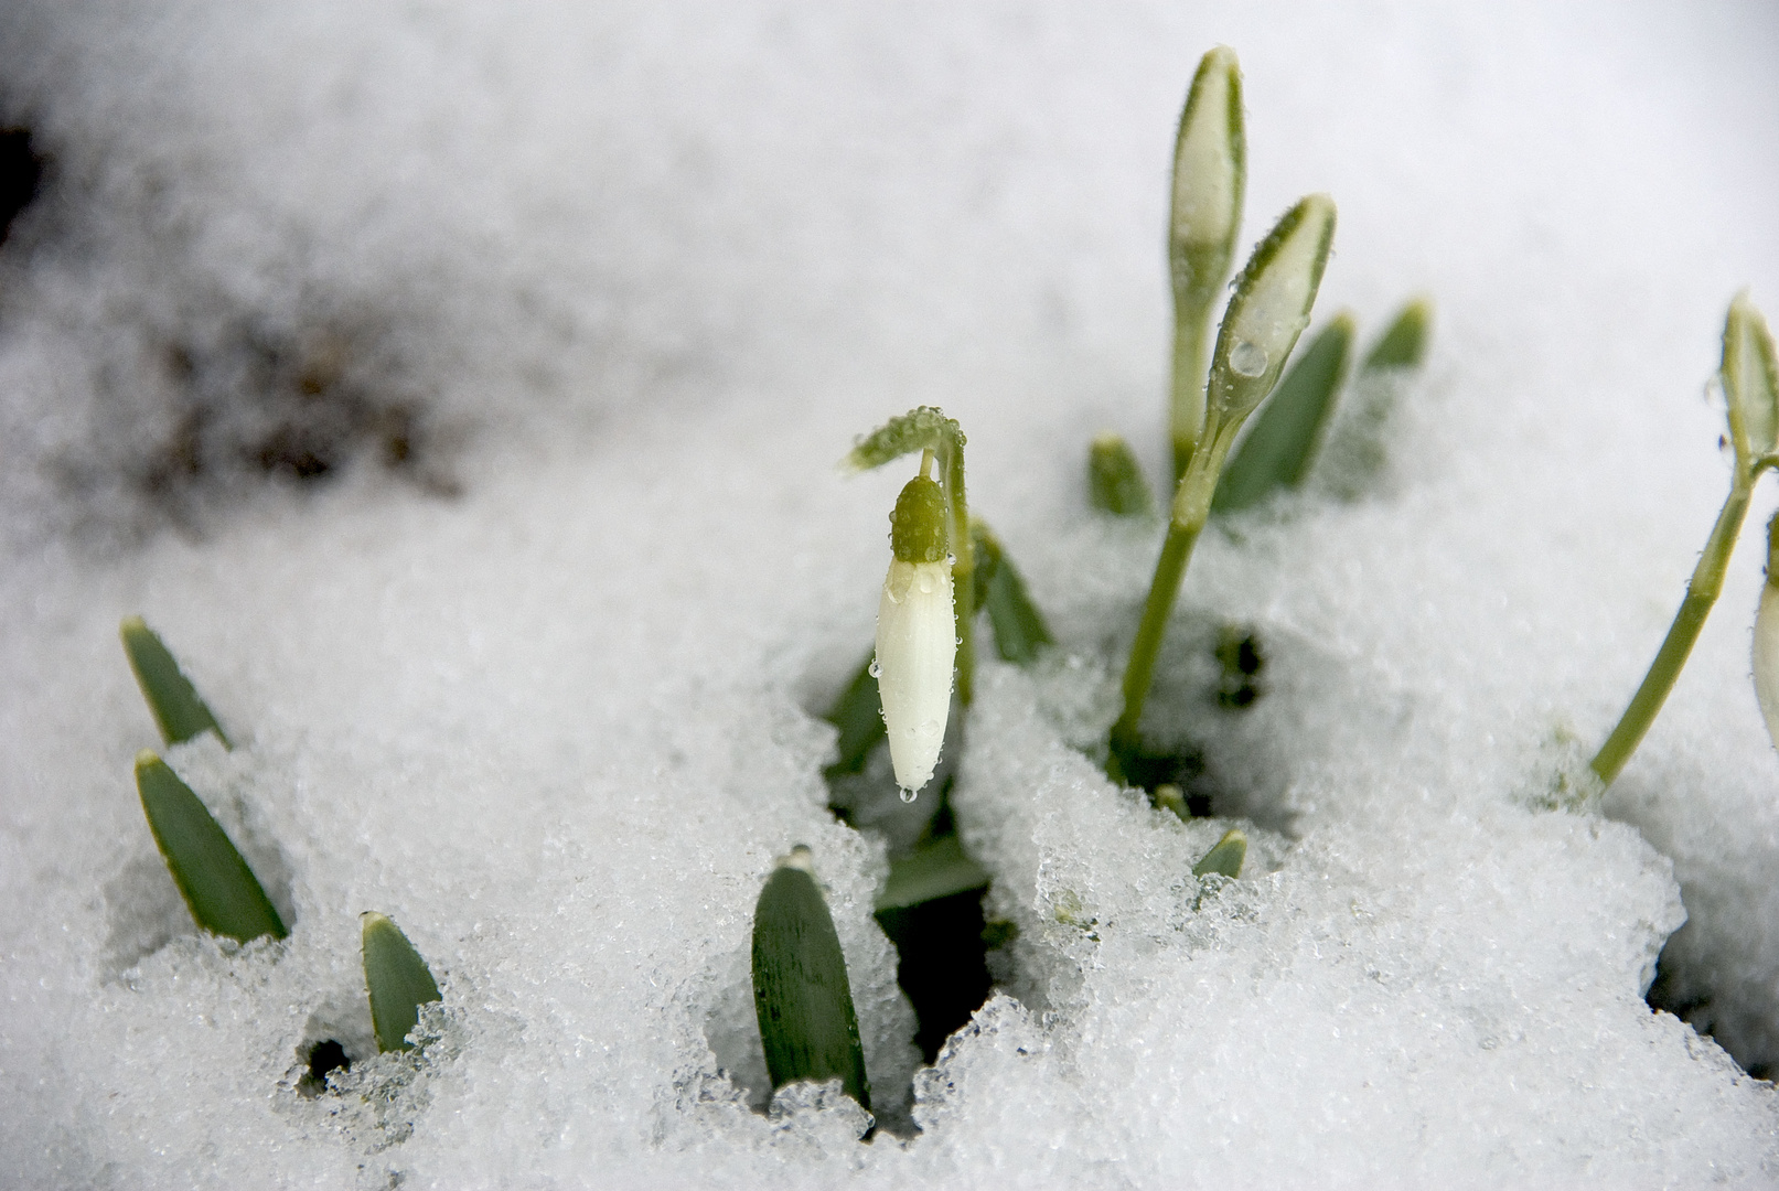
[[[1352,336],[1352,316],[1338,315],[1297,354],[1224,468],[1211,498],[1213,514],[1252,508],[1279,489],[1304,482],[1347,373]]]

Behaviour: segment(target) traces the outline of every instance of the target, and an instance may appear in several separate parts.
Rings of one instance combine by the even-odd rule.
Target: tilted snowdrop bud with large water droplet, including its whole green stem
[[[1167,617],[1179,596],[1192,548],[1210,517],[1224,459],[1242,423],[1279,379],[1284,357],[1309,322],[1332,244],[1334,201],[1313,194],[1279,219],[1236,279],[1229,311],[1217,331],[1204,434],[1174,492],[1162,556],[1155,564],[1142,622],[1124,667],[1124,711],[1112,725],[1107,755],[1107,773],[1114,779],[1124,779],[1124,757],[1137,752],[1137,723],[1149,697]]]

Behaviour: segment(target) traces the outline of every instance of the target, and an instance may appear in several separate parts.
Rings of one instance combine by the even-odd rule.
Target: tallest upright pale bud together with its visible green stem
[[[1174,288],[1174,393],[1169,428],[1174,480],[1204,430],[1204,348],[1242,228],[1247,133],[1242,69],[1235,50],[1217,46],[1199,60],[1174,137],[1174,187],[1167,220],[1167,265]]]

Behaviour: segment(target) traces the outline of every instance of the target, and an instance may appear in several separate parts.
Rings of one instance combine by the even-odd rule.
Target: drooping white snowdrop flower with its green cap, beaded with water
[[[906,802],[932,780],[939,763],[957,658],[945,491],[927,476],[930,466],[927,452],[922,475],[907,482],[890,514],[895,558],[877,603],[877,690]]]

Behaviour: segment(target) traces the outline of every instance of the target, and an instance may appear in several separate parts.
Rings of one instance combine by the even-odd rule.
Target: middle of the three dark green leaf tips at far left
[[[135,755],[135,787],[173,883],[201,928],[240,942],[290,933],[222,827],[192,787],[148,748]]]

